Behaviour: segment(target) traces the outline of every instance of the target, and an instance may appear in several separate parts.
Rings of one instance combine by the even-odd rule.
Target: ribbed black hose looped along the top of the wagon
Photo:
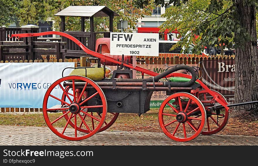
[[[173,73],[179,70],[190,71],[190,73],[192,74],[191,80],[189,80],[188,82],[165,82],[165,86],[168,86],[168,84],[170,84],[173,87],[189,87],[196,81],[197,74],[196,74],[196,70],[193,67],[187,66],[187,65],[176,65],[173,68],[167,71],[164,71],[163,73],[157,76],[154,76],[153,78],[144,78],[144,79],[117,78],[116,82],[142,82],[142,80],[146,80],[147,82],[153,82],[153,81],[157,82],[159,81],[159,79],[169,75],[170,73]]]

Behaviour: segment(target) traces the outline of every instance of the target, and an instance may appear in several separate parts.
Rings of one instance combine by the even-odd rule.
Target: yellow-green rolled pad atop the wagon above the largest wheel
[[[104,68],[86,68],[87,78],[93,81],[100,81],[104,78]],[[78,75],[85,77],[85,68],[74,69],[69,76]]]

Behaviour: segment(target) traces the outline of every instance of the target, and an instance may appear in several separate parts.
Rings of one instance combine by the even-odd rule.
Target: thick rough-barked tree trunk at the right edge
[[[240,25],[254,38],[245,46],[236,49],[235,56],[235,103],[258,100],[258,51],[255,21],[255,5],[237,0],[237,18]],[[249,104],[235,107],[230,117],[257,118],[258,105]]]

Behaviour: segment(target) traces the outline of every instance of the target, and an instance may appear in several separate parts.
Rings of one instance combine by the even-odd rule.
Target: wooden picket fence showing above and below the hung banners
[[[44,59],[44,60],[15,60],[15,61],[0,61],[0,63],[36,63],[36,62],[74,62],[74,67],[90,66],[91,63],[97,63],[96,60],[89,60],[89,57],[81,57],[76,59]],[[138,56],[136,59],[145,59],[145,62],[137,62],[137,64],[198,64],[202,60],[212,59],[234,59],[235,55],[229,56],[203,56],[203,55],[160,55],[159,57],[144,57]],[[42,108],[1,108],[1,112],[42,112]]]

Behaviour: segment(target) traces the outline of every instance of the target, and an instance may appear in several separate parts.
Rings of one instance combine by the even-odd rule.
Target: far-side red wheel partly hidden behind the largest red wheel
[[[65,91],[66,91],[67,95],[72,97],[72,95],[73,95],[72,94],[72,89],[69,86],[67,86],[65,88]],[[76,93],[77,100],[78,100],[78,96],[80,96],[80,94],[81,94],[80,92]],[[82,99],[86,98],[86,96],[87,96],[87,93],[84,92],[82,94]],[[66,101],[66,102],[69,101],[69,99],[66,97],[65,92],[63,92],[62,100]],[[63,104],[63,103],[61,102],[61,104]],[[63,111],[63,113],[65,114],[66,112]],[[92,116],[96,116],[96,117],[100,117],[100,118],[102,116],[102,113],[97,113],[97,112],[91,112],[91,114],[92,114]],[[113,123],[115,123],[116,119],[118,118],[118,115],[119,115],[119,113],[107,113],[106,120],[104,121],[104,125],[102,126],[102,128],[97,133],[108,129],[111,125],[113,125]],[[83,119],[85,117],[86,117],[86,115],[83,116]],[[68,121],[69,116],[65,115],[65,119]],[[94,123],[96,123],[95,120],[93,118],[91,118],[92,128],[94,128],[94,126],[96,126],[96,125],[94,125]],[[74,128],[74,123],[72,121],[69,121],[69,125],[71,125]],[[77,124],[77,130],[79,130],[80,132],[83,132],[83,133],[89,133],[90,132],[87,128],[85,128],[85,126],[82,124],[82,122],[80,124]]]

